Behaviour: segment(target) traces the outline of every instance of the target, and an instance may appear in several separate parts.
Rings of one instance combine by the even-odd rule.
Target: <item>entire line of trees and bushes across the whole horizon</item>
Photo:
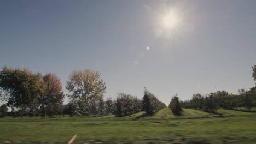
[[[256,65],[252,77],[256,81]],[[5,102],[0,106],[0,117],[4,116],[105,116],[118,117],[146,111],[154,115],[166,107],[164,103],[144,89],[142,99],[131,94],[118,93],[116,99],[107,98],[106,83],[100,78],[100,73],[92,70],[74,70],[66,82],[68,104],[63,104],[63,93],[60,79],[54,74],[42,75],[32,73],[28,69],[3,67],[0,71],[0,100]],[[216,112],[217,109],[236,110],[246,107],[251,110],[256,106],[255,87],[246,91],[240,89],[238,94],[217,91],[210,94],[193,94],[191,100],[181,101],[177,94],[172,97],[168,107],[174,115],[182,115],[182,107],[198,109],[206,112]],[[8,111],[11,109],[11,111]]]

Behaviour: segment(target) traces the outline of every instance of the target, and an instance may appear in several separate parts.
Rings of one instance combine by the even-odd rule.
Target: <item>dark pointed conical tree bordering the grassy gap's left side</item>
[[[147,115],[154,115],[165,107],[166,105],[164,103],[159,101],[154,94],[145,89],[144,97],[142,98],[142,109],[146,111]]]

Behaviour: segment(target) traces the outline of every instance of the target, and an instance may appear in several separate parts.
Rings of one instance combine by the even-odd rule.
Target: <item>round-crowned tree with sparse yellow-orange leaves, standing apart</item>
[[[73,104],[75,115],[89,115],[90,103],[103,98],[106,84],[100,79],[100,73],[92,70],[74,70],[69,76],[66,89],[71,93],[68,97]]]

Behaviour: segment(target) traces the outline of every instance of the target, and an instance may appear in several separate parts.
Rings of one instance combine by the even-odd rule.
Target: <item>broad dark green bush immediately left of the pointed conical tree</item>
[[[115,104],[118,117],[129,116],[142,110],[142,101],[131,94],[119,93]]]

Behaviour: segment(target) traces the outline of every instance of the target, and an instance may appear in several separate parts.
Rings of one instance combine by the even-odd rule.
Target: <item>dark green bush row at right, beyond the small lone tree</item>
[[[193,94],[191,100],[181,101],[181,106],[188,109],[199,109],[207,112],[216,112],[217,109],[236,110],[236,107],[246,107],[248,111],[256,107],[255,88],[249,91],[241,89],[239,94],[229,94],[226,91],[217,91],[207,95]]]

